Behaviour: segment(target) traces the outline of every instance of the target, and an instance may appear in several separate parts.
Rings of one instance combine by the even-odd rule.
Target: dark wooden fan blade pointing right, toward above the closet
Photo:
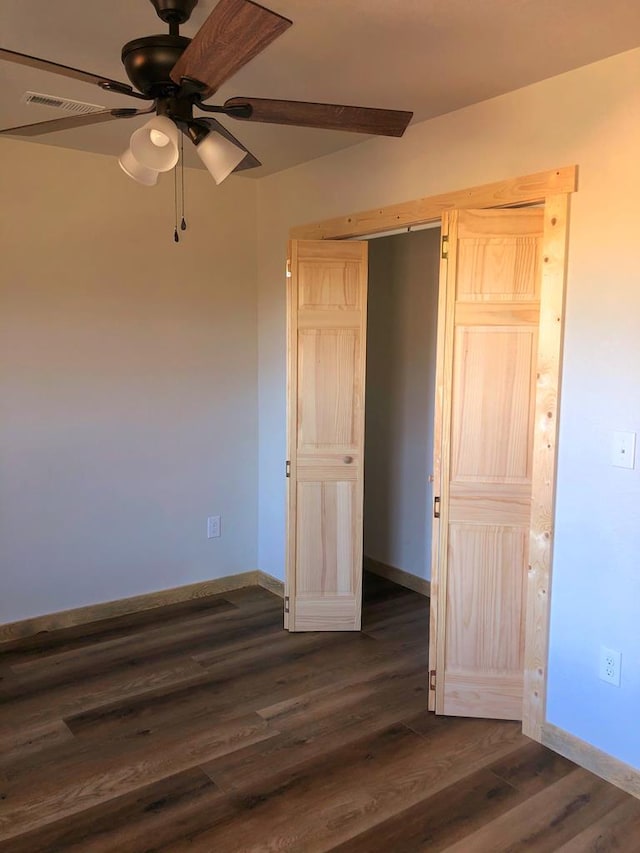
[[[325,130],[350,130],[379,136],[402,136],[413,113],[380,110],[374,107],[346,107],[340,104],[313,104],[306,101],[276,101],[265,98],[229,98],[225,109],[248,104],[250,116],[229,114],[245,121],[293,124]]]

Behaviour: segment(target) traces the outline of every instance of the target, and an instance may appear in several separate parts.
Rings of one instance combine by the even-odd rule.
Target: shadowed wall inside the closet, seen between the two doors
[[[364,553],[431,578],[440,229],[369,241]]]

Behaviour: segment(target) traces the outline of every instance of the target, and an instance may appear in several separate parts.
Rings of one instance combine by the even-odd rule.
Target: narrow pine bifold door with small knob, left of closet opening
[[[289,268],[285,627],[358,631],[367,244],[294,240]]]

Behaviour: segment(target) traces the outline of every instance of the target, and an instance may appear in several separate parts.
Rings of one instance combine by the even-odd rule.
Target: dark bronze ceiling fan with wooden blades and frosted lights
[[[151,0],[169,33],[127,42],[122,62],[131,83],[121,83],[46,59],[0,48],[0,59],[95,83],[150,102],[143,109],[119,108],[10,127],[0,133],[38,136],[53,131],[153,114],[136,130],[120,165],[140,183],[152,185],[159,172],[178,160],[181,131],[196,146],[200,159],[220,183],[231,172],[260,166],[220,122],[202,113],[244,121],[402,136],[413,113],[370,107],[318,104],[264,98],[229,98],[222,105],[205,103],[220,86],[287,30],[292,22],[253,0],[219,0],[193,39],[180,35],[198,0]]]

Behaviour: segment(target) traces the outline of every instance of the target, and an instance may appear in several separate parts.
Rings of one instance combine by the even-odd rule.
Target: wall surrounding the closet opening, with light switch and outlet
[[[429,85],[429,81],[425,81]],[[552,590],[549,719],[640,767],[640,49],[263,179],[260,567],[283,576],[284,262],[291,225],[577,163]],[[265,509],[263,510],[263,507]],[[600,645],[622,685],[598,679]]]

